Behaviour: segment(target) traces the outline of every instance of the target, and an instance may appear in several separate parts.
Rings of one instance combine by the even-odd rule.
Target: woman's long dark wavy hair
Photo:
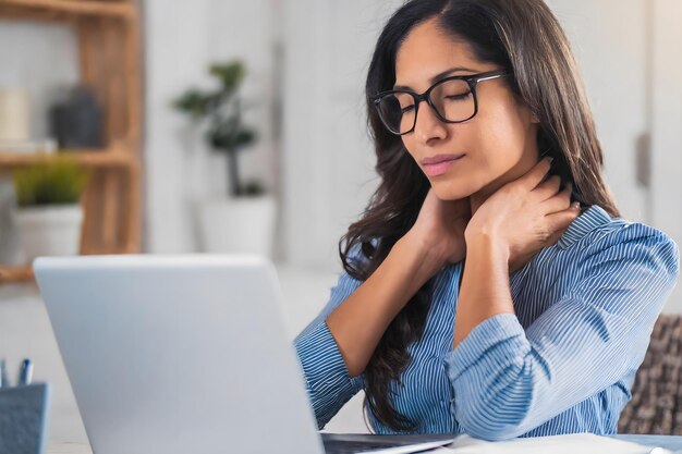
[[[602,152],[569,41],[543,0],[412,0],[388,21],[367,75],[368,125],[380,184],[361,217],[339,243],[345,271],[366,280],[416,221],[430,187],[402,139],[381,124],[372,98],[395,83],[395,56],[416,25],[435,19],[449,36],[471,46],[482,62],[513,76],[510,89],[539,120],[538,150],[555,158],[553,172],[572,182],[573,198],[620,213],[601,174]],[[352,250],[361,250],[357,260]],[[415,428],[391,402],[391,385],[411,360],[407,346],[419,340],[431,300],[427,282],[392,320],[367,367],[365,405],[394,431]]]

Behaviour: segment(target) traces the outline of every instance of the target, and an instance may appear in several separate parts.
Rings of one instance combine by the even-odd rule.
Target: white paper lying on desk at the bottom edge
[[[514,439],[510,441],[483,441],[468,435],[429,453],[437,454],[671,454],[661,447],[643,446],[623,440],[593,433]]]

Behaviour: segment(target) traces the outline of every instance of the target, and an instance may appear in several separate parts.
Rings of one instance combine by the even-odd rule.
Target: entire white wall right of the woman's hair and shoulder
[[[582,65],[623,217],[682,245],[682,2],[548,0]],[[637,181],[637,139],[650,136],[650,184]],[[682,312],[682,285],[665,308]]]

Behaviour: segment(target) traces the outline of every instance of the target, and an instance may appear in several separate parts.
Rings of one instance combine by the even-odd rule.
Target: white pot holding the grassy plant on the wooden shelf
[[[17,208],[14,211],[14,225],[28,262],[40,256],[77,255],[82,224],[83,208],[80,205]]]

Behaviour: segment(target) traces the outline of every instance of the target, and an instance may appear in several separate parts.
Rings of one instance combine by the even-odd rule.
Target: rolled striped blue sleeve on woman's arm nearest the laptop
[[[346,273],[341,274],[338,284],[331,289],[331,297],[325,308],[294,341],[319,429],[322,429],[364,386],[363,376],[350,377],[339,346],[326,322],[329,314],[361,283]]]

